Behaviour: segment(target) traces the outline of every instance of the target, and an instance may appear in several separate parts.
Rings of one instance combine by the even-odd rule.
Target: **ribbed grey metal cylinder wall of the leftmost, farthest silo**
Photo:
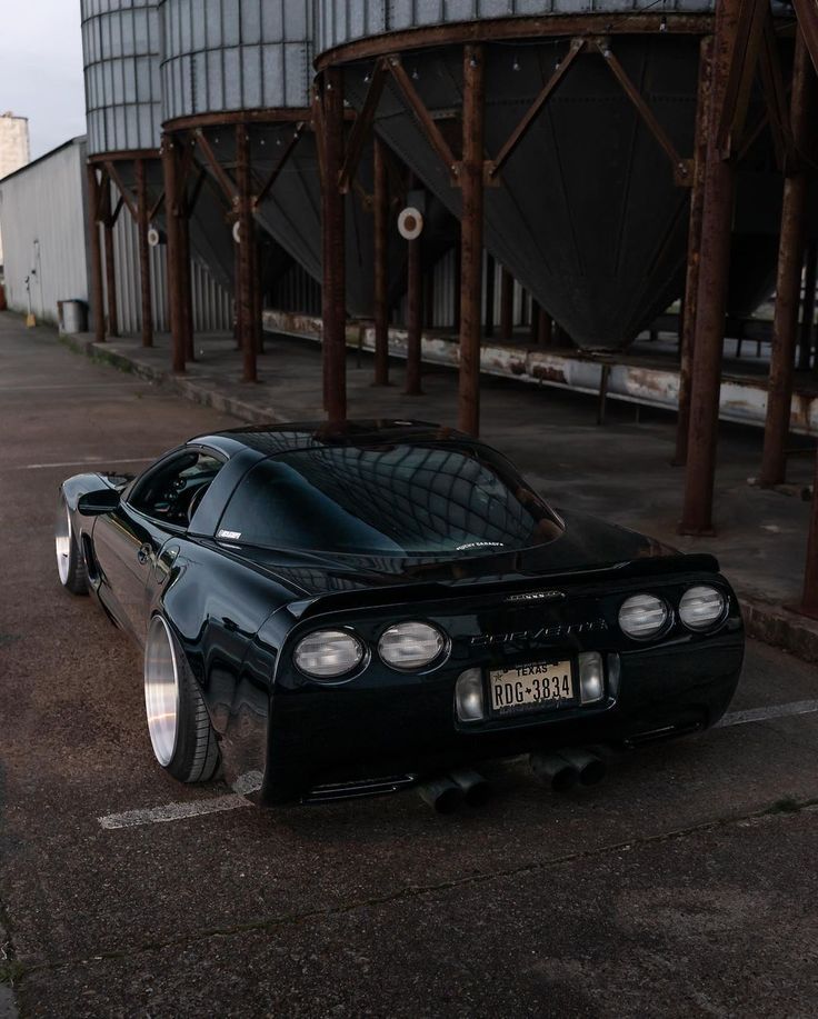
[[[160,48],[157,0],[82,0],[92,154],[159,148]]]

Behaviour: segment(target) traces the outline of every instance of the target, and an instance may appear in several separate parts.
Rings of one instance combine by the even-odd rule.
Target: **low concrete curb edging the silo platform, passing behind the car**
[[[92,339],[61,336],[60,341],[77,353],[83,353],[120,371],[131,372],[169,392],[177,392],[187,400],[232,414],[241,421],[261,424],[280,420],[271,408],[258,407],[220,392],[216,381],[180,378],[171,371],[153,368]],[[818,662],[818,622],[788,611],[782,606],[759,601],[755,592],[744,593],[739,589],[737,593],[748,637],[789,651],[805,661]]]

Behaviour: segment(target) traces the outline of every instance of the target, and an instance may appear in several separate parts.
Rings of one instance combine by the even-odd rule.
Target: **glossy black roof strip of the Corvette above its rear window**
[[[228,457],[242,449],[252,449],[265,457],[299,449],[320,449],[331,446],[378,447],[403,444],[456,443],[479,444],[470,436],[433,424],[429,421],[410,420],[351,420],[343,422],[300,421],[287,424],[259,424],[233,428],[226,431],[198,436],[191,444],[208,446]]]

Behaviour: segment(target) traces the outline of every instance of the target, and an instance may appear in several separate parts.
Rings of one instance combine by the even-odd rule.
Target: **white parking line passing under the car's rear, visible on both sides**
[[[799,715],[814,715],[818,711],[818,700],[796,700],[789,705],[770,705],[768,708],[750,708],[747,711],[730,711],[714,729],[726,729],[729,726],[746,726],[750,722],[764,722],[770,718],[790,718]],[[187,803],[166,803],[163,807],[127,810],[124,813],[109,813],[99,818],[102,828],[138,828],[141,825],[157,825],[164,821],[181,821],[184,818],[200,817],[206,813],[220,813],[223,810],[237,810],[239,807],[251,807],[247,799],[251,792],[261,788],[261,772],[248,771],[233,782],[233,791],[225,796],[215,796],[206,800]]]

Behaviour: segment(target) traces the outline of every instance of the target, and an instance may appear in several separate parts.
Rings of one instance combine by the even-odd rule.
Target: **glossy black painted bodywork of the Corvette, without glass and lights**
[[[129,501],[132,479],[80,474],[62,487],[93,593],[141,645],[150,618],[173,628],[201,686],[220,739],[226,777],[263,775],[262,802],[298,800],[316,786],[441,769],[532,749],[579,743],[636,746],[705,728],[730,702],[744,657],[736,597],[709,556],[681,556],[583,515],[561,512],[565,531],[533,548],[446,560],[308,553],[218,540],[225,506],[247,471],[280,452],[322,444],[470,443],[418,422],[358,422],[243,429],[181,447],[225,466],[187,527],[159,521]],[[161,466],[179,451],[158,461]],[[119,494],[110,512],[84,516],[82,496]],[[97,506],[111,496],[97,496]],[[694,633],[676,607],[696,583],[721,588],[728,612],[711,633]],[[651,641],[619,629],[631,593],[664,598],[672,618]],[[521,596],[539,593],[535,600]],[[398,672],[378,657],[380,633],[429,620],[448,635],[437,668]],[[325,627],[356,631],[371,653],[332,686],[292,663],[298,639]],[[599,651],[599,705],[459,722],[457,677],[549,657]]]

